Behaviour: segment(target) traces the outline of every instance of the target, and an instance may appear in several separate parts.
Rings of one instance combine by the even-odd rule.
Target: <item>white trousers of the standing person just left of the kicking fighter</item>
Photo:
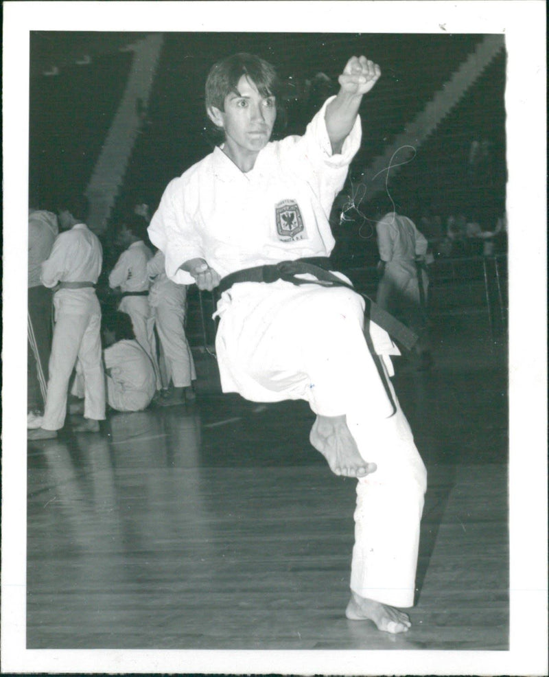
[[[152,307],[152,314],[163,349],[167,385],[171,379],[174,387],[186,388],[196,380],[196,369],[185,336],[185,309],[161,301]]]

